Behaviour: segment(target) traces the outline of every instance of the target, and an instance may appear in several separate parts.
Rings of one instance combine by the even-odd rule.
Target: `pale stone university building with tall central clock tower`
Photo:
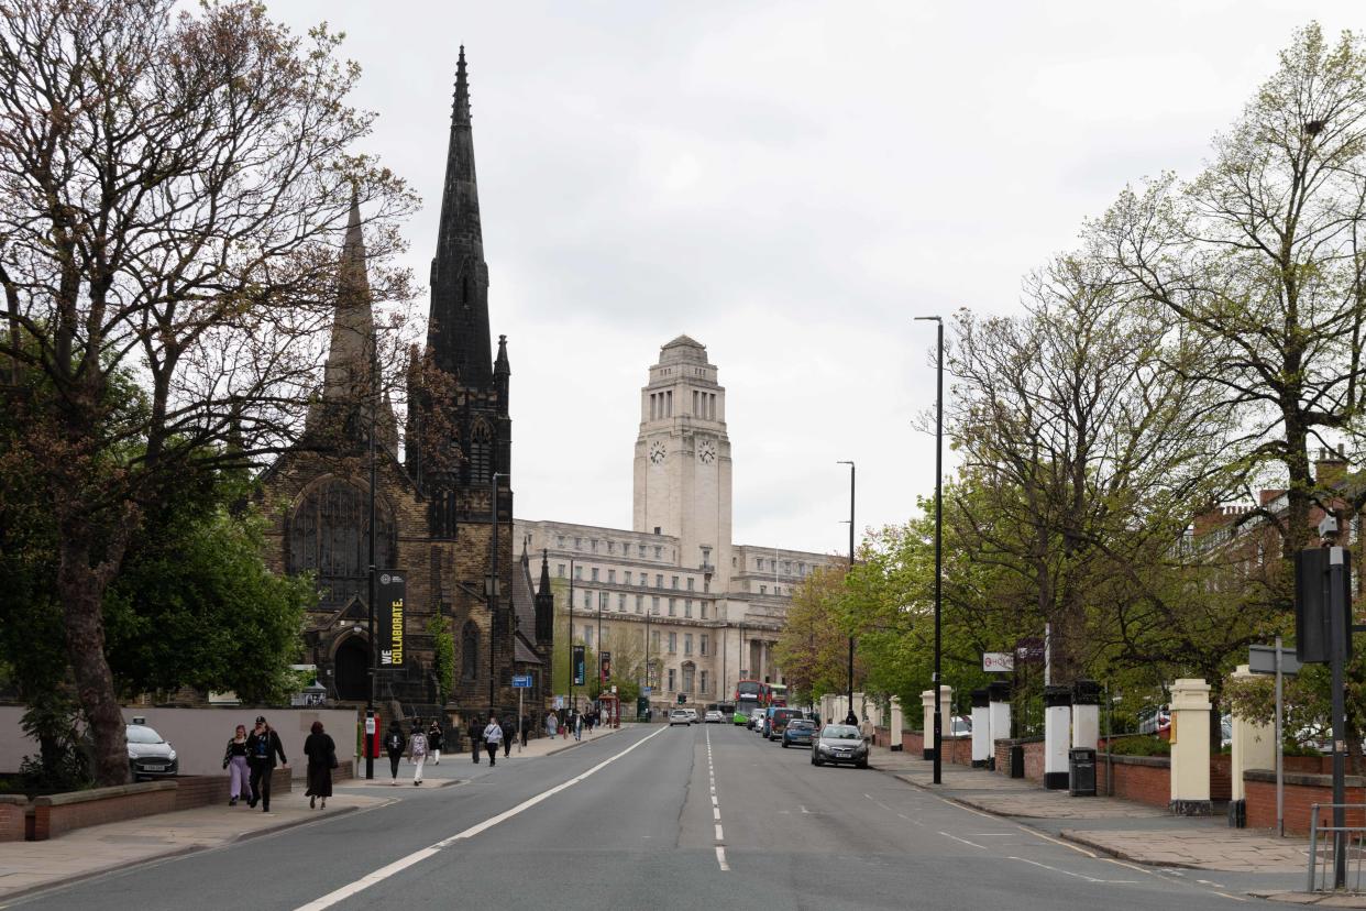
[[[840,563],[735,544],[731,508],[725,388],[706,347],[679,336],[641,389],[632,527],[516,519],[516,539],[545,553],[560,628],[572,597],[572,641],[615,650],[619,672],[623,651],[638,654],[656,710],[679,694],[721,702],[744,677],[784,683],[773,645],[792,589],[816,567]],[[560,642],[561,661],[568,647]]]

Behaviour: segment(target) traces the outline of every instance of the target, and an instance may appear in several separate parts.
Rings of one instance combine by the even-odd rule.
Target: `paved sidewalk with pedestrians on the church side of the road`
[[[593,735],[585,733],[582,740],[533,739],[526,747],[514,744],[510,757],[500,754],[499,765],[494,768],[515,768],[530,759],[608,739],[615,733],[616,729],[607,729]],[[479,757],[478,765],[470,761],[469,753],[447,753],[441,759],[440,765],[428,761],[422,770],[421,788],[469,784],[481,770],[485,773],[493,770],[489,768],[486,753]],[[391,780],[388,759],[377,759],[374,780],[333,781],[333,796],[328,799],[325,810],[309,809],[309,799],[303,796],[306,785],[302,780],[295,780],[294,791],[270,796],[270,813],[253,810],[245,803],[228,807],[224,794],[223,803],[216,806],[76,829],[48,841],[8,841],[0,844],[0,908],[12,899],[55,885],[385,807],[419,787],[413,785],[413,765],[404,759],[398,777]]]

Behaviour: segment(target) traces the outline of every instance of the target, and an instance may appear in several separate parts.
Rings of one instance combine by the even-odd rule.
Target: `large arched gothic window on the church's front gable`
[[[313,485],[290,515],[285,568],[291,575],[317,576],[318,604],[339,609],[367,593],[370,572],[370,509],[366,490],[340,478]],[[393,520],[377,504],[374,559],[378,568],[395,564]]]

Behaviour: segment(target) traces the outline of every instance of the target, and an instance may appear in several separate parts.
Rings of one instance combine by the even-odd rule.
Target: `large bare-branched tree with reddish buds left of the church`
[[[339,37],[251,3],[0,0],[5,407],[59,529],[96,779],[127,777],[101,601],[167,479],[277,452],[318,382],[352,187],[382,257],[402,183]],[[31,381],[40,377],[41,381]],[[133,381],[128,396],[112,387]]]

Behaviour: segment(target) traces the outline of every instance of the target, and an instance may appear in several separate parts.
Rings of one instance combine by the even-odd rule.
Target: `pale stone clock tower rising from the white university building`
[[[712,591],[731,575],[731,440],[725,389],[706,346],[686,335],[660,350],[641,389],[632,527],[676,535],[680,567],[712,567]]]

